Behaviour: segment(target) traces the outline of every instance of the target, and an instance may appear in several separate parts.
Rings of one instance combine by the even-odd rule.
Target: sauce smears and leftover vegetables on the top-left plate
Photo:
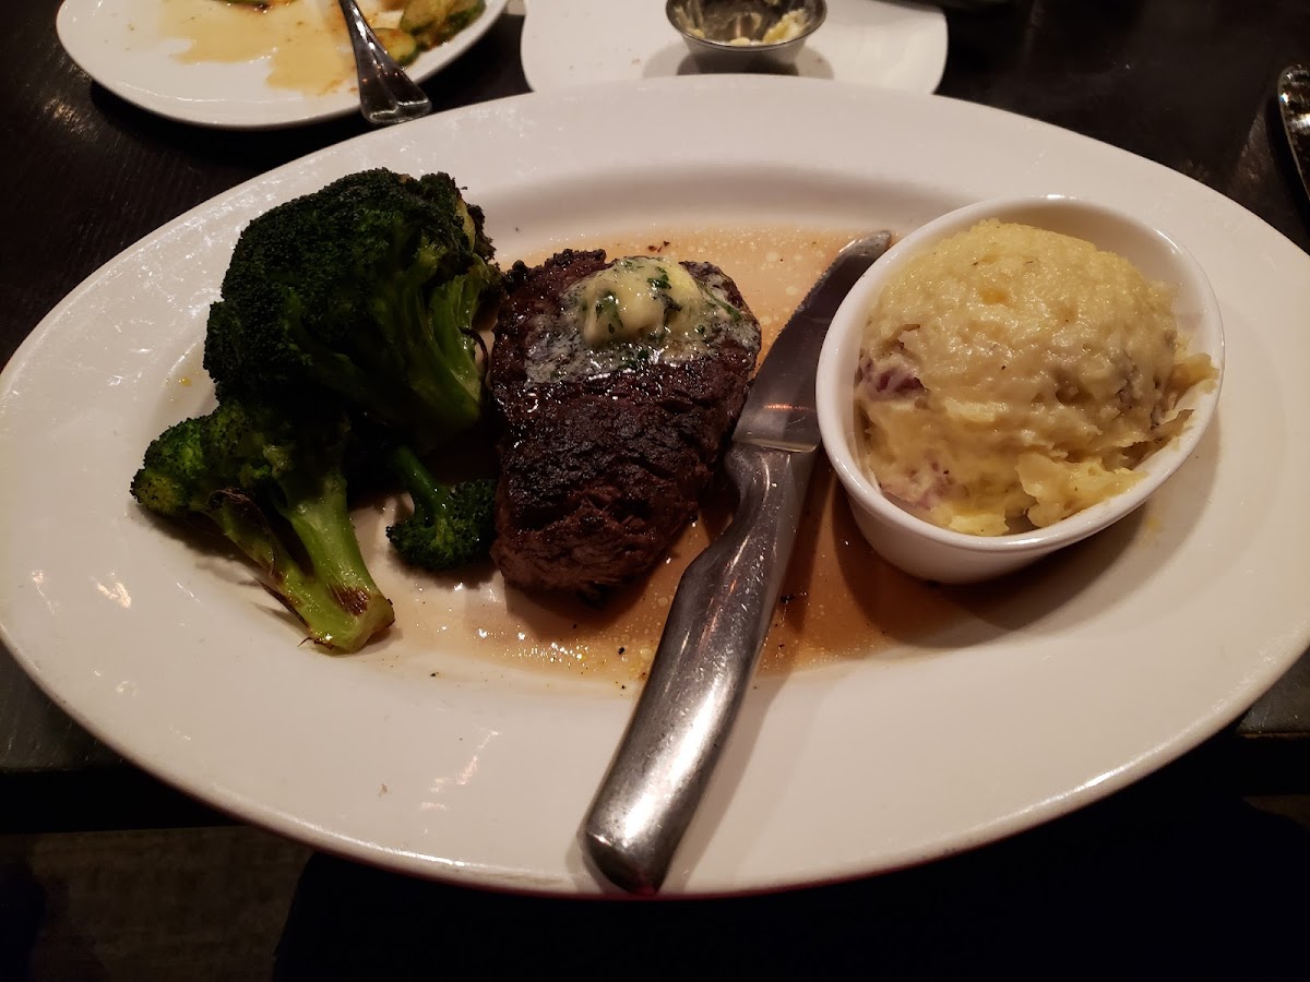
[[[444,45],[486,9],[485,0],[359,0],[400,64]],[[305,96],[354,88],[355,60],[337,0],[160,0],[159,33],[187,47],[181,62],[266,60],[267,84]]]

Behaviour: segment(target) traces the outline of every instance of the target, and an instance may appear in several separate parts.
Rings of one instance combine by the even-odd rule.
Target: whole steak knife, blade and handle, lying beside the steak
[[[723,466],[732,522],[683,573],[618,749],[583,822],[592,865],[630,893],[656,893],[741,706],[791,558],[819,452],[815,369],[828,323],[889,232],[837,254],[751,385]]]

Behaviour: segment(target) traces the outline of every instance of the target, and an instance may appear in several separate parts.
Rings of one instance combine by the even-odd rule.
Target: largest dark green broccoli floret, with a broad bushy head
[[[502,293],[482,212],[445,174],[343,177],[242,230],[210,309],[219,401],[316,403],[396,427],[421,449],[482,410],[483,304]]]

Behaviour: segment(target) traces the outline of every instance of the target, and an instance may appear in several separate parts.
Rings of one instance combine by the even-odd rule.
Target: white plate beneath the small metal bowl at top
[[[698,75],[663,0],[525,0],[523,73],[537,92],[569,85]],[[933,92],[946,69],[946,14],[935,7],[828,0],[806,42],[804,79]]]

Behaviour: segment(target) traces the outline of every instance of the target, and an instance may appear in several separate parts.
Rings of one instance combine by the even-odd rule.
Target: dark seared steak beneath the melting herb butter
[[[574,250],[531,270],[516,263],[495,327],[489,384],[500,478],[491,555],[524,589],[596,594],[659,562],[697,511],[760,348],[736,285],[710,263],[683,263],[701,282],[722,278],[726,299],[748,319],[747,343],[722,338],[711,354],[680,363],[531,384],[533,338],[558,318],[565,291],[604,266],[603,251]]]

